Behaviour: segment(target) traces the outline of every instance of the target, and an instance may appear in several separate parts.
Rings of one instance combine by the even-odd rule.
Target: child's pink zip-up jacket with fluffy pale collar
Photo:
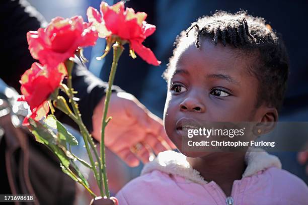
[[[146,164],[141,176],[116,195],[119,205],[137,204],[296,204],[308,205],[308,187],[295,175],[281,170],[281,163],[266,152],[247,152],[247,168],[226,196],[214,182],[207,182],[191,168],[183,154],[165,151]],[[231,167],[230,167],[231,168]]]

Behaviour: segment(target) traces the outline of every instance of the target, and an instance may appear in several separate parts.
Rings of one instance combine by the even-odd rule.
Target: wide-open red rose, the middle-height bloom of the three
[[[47,28],[27,33],[32,57],[51,67],[73,57],[78,47],[95,45],[97,38],[95,28],[85,23],[81,16],[56,17]]]

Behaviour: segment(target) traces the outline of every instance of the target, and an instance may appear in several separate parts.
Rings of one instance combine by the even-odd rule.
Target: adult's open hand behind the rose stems
[[[93,137],[100,141],[105,97],[94,110]],[[160,118],[150,113],[133,95],[112,93],[107,117],[111,116],[105,130],[105,145],[129,166],[137,166],[139,159],[149,160],[151,150],[156,154],[175,149],[169,140]]]

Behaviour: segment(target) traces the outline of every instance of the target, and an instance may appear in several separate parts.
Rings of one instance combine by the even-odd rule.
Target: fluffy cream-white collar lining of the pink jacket
[[[243,178],[252,176],[257,172],[270,167],[281,169],[281,163],[278,157],[270,155],[261,149],[250,148],[246,153],[245,161],[247,168],[243,174]],[[200,173],[191,167],[186,160],[186,156],[175,151],[169,150],[159,153],[153,161],[147,163],[143,167],[141,175],[153,170],[159,170],[167,174],[179,175],[199,184],[207,183]]]

